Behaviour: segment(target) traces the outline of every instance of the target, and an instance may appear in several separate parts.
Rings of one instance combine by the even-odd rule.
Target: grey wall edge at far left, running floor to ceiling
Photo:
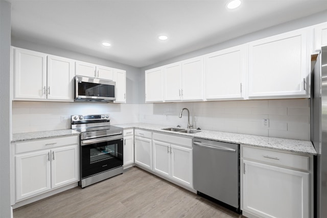
[[[10,32],[11,4],[0,1],[0,217],[10,207]]]

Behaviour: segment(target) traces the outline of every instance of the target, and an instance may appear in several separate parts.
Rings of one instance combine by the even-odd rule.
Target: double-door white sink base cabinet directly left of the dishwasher
[[[192,139],[153,133],[153,171],[193,188]]]

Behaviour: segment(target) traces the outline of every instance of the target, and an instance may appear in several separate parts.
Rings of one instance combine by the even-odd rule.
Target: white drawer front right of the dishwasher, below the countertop
[[[242,157],[284,167],[309,171],[309,157],[264,149],[242,148]]]

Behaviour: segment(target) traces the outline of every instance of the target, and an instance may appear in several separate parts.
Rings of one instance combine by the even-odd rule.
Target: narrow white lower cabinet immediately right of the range
[[[134,163],[134,129],[125,129],[124,135],[124,150],[123,150],[123,166],[132,166]]]

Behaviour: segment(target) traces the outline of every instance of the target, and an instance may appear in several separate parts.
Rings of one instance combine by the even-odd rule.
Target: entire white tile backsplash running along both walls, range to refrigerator
[[[111,125],[151,123],[186,128],[190,110],[194,128],[310,140],[310,100],[247,100],[151,104],[62,103],[14,101],[12,132],[71,128],[73,114],[109,113]],[[263,126],[269,119],[269,127]]]

